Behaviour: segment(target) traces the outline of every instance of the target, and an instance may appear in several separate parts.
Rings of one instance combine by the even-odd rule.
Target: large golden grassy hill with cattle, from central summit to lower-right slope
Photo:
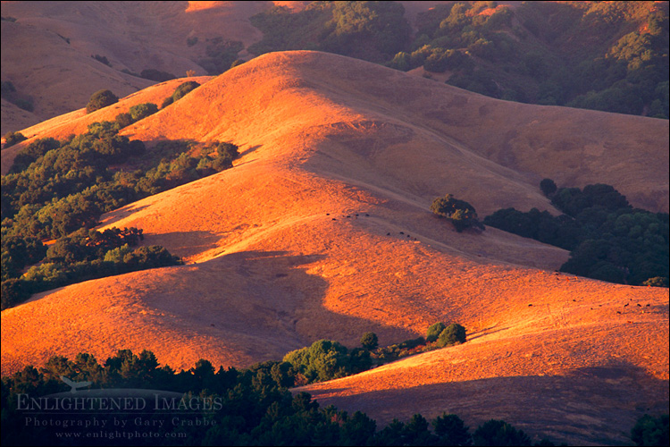
[[[153,350],[174,368],[198,358],[245,367],[321,338],[353,347],[373,331],[385,345],[446,321],[470,341],[310,392],[381,422],[455,411],[471,426],[504,418],[583,443],[667,407],[666,289],[554,274],[565,250],[493,228],[457,233],[429,211],[450,192],[480,216],[557,212],[543,177],[613,184],[634,205],[666,211],[667,122],[507,103],[288,52],[209,80],[122,133],[149,148],[227,140],[242,156],[104,215],[102,226],[142,228],[145,243],[188,264],[3,311],[3,374],[119,349]]]

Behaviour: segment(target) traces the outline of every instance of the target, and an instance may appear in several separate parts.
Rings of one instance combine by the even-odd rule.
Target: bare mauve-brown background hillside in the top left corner
[[[2,134],[78,109],[99,89],[120,97],[144,89],[155,83],[138,77],[144,70],[206,74],[198,61],[208,40],[249,45],[261,34],[247,18],[272,5],[190,3],[3,2],[3,17],[15,21],[2,21],[2,80],[32,97],[35,117],[3,109]]]

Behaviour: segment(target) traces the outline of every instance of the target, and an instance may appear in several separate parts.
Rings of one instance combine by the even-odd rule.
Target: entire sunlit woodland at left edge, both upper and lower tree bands
[[[85,134],[38,139],[19,151],[2,177],[3,308],[37,291],[179,264],[162,247],[131,249],[137,240],[126,230],[114,230],[113,246],[96,242],[95,254],[89,245],[99,237],[88,229],[103,213],[228,169],[239,156],[236,145],[218,141],[203,147],[163,141],[147,151],[142,141],[118,134],[156,111],[155,104],[134,105],[114,122],[91,123]],[[48,251],[46,239],[55,240]]]

